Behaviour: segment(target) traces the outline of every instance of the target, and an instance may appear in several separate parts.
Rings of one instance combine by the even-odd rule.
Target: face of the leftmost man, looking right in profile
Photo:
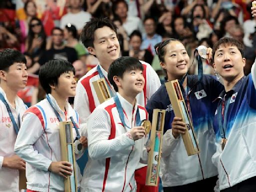
[[[1,81],[4,80],[8,87],[18,91],[26,86],[27,71],[25,63],[14,62],[8,71],[0,70]]]

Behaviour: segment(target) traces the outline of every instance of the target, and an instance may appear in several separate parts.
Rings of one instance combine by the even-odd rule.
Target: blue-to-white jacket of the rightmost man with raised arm
[[[218,168],[219,189],[231,187],[256,176],[256,67],[240,79],[225,97],[224,127],[227,142],[221,150],[221,100],[215,112],[214,129],[217,151],[212,156]],[[228,91],[229,92],[229,91]],[[226,94],[228,94],[228,92]],[[225,92],[224,92],[225,93]],[[227,99],[228,98],[228,99]],[[216,121],[215,121],[216,120]],[[255,189],[256,190],[256,189]]]

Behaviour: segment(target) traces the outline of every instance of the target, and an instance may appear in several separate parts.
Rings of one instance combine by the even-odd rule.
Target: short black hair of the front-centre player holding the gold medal
[[[134,69],[139,69],[143,71],[143,65],[137,58],[131,56],[119,57],[110,64],[108,68],[107,78],[109,82],[113,85],[116,92],[118,91],[118,88],[113,80],[113,76],[118,76],[122,78],[125,71]]]

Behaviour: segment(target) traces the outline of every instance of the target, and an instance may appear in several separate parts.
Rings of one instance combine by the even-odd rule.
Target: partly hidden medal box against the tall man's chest
[[[100,78],[92,82],[92,85],[96,91],[99,103],[101,104],[105,100],[111,98],[109,90],[107,88],[104,78]]]

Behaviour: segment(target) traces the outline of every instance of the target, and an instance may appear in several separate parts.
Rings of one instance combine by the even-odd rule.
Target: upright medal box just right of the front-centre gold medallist
[[[146,185],[150,186],[158,185],[164,117],[165,110],[153,109],[150,151],[148,152],[146,169]]]

